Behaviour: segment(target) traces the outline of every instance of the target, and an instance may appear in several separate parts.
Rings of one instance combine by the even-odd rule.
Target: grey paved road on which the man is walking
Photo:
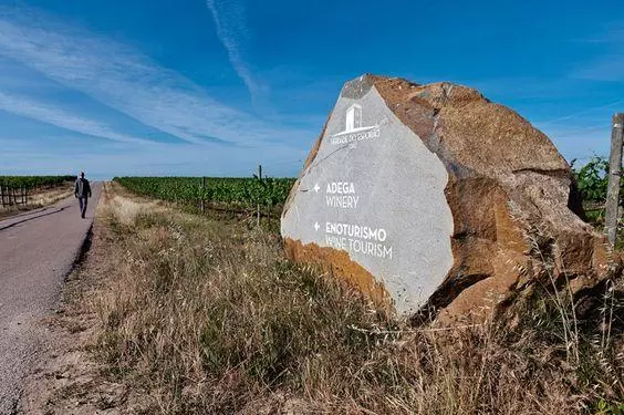
[[[100,199],[93,186],[86,219],[71,197],[0,221],[0,414],[19,413],[25,375],[45,345],[41,324],[93,222]]]

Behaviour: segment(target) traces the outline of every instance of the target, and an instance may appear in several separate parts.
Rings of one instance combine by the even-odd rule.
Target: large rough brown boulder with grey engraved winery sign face
[[[401,314],[491,315],[541,281],[622,272],[570,166],[513,111],[451,83],[347,82],[284,206],[288,255]]]

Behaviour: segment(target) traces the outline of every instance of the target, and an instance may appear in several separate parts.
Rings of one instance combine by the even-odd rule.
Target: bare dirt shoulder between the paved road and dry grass
[[[139,413],[131,404],[127,385],[103,375],[92,350],[102,331],[94,304],[108,272],[114,271],[119,247],[102,212],[111,191],[104,185],[89,250],[67,276],[63,298],[54,314],[44,321],[50,344],[24,391],[24,414],[127,414]]]

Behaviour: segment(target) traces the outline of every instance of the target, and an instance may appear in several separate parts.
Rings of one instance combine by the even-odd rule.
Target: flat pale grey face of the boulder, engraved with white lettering
[[[358,81],[344,87],[281,232],[302,247],[343,251],[340,261],[360,267],[332,263],[347,270],[341,277],[361,281],[349,273],[366,273],[398,312],[412,312],[453,266],[448,174],[375,86]]]

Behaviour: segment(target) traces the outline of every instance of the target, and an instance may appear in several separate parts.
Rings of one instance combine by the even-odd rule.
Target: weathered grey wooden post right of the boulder
[[[606,189],[606,207],[604,230],[611,245],[617,238],[617,220],[620,218],[620,178],[622,177],[622,138],[624,136],[624,114],[613,115],[611,134],[611,155],[609,157],[609,187]]]

